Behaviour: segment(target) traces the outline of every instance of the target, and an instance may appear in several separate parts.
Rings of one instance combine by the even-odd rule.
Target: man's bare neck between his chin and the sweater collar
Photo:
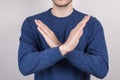
[[[53,5],[53,8],[51,10],[52,14],[57,17],[66,17],[69,16],[73,12],[72,3],[70,3],[66,7],[58,7],[56,5]]]

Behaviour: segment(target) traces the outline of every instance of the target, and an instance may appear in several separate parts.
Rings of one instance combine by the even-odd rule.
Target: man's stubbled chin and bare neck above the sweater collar
[[[73,12],[72,0],[52,0],[52,14],[57,17],[66,17]]]

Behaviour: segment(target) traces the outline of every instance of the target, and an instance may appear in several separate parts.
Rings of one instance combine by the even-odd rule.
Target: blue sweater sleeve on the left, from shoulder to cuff
[[[21,73],[23,75],[36,73],[51,67],[62,58],[58,47],[37,49],[37,43],[27,18],[22,25],[18,50],[18,65]]]

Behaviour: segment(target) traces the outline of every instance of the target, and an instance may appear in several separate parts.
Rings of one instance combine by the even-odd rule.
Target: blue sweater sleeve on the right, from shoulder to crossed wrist
[[[67,59],[79,70],[104,78],[108,72],[108,53],[101,23],[95,20],[86,51],[73,50]]]

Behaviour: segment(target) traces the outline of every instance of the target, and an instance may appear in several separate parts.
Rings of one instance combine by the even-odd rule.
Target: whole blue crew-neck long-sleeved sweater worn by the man
[[[40,19],[64,43],[85,15],[74,9],[67,17],[56,17],[49,9],[26,18],[18,51],[21,73],[34,73],[35,80],[90,80],[90,75],[104,78],[108,72],[108,54],[103,27],[96,18],[90,18],[77,47],[65,56],[61,55],[59,46],[48,46],[34,22]]]

